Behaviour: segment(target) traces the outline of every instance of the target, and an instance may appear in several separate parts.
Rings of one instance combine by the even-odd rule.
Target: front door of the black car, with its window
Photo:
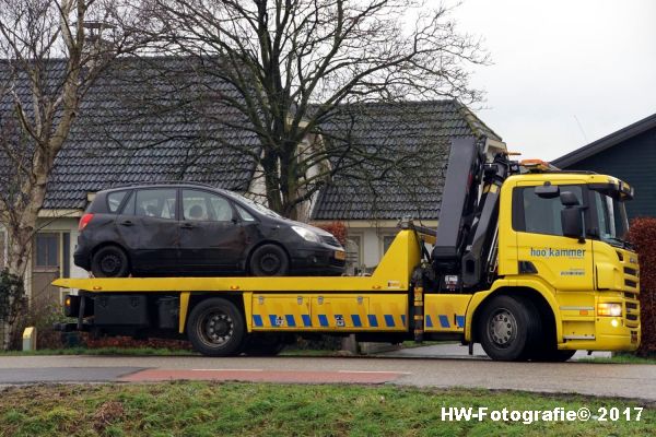
[[[231,202],[203,190],[183,190],[180,264],[196,272],[236,272],[243,261],[245,232]]]

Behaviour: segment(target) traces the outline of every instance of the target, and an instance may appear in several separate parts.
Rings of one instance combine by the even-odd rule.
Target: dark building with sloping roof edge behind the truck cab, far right
[[[630,218],[656,217],[656,114],[643,118],[552,162],[567,170],[613,175],[635,189],[626,202]]]

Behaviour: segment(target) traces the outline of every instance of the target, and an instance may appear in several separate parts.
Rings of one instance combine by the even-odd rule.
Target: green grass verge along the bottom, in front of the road
[[[443,422],[442,408],[618,408],[618,421]],[[169,382],[0,392],[0,436],[652,436],[656,410],[618,399],[399,387]],[[631,409],[632,421],[623,416]]]

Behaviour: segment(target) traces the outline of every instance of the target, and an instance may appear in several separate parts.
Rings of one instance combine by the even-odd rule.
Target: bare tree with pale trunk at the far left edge
[[[105,67],[133,49],[138,21],[121,1],[0,0],[0,223],[17,277],[81,102]]]

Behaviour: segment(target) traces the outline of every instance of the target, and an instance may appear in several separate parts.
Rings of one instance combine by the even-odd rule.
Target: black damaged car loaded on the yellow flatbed
[[[80,220],[74,262],[96,277],[340,275],[326,231],[200,184],[99,191]]]

